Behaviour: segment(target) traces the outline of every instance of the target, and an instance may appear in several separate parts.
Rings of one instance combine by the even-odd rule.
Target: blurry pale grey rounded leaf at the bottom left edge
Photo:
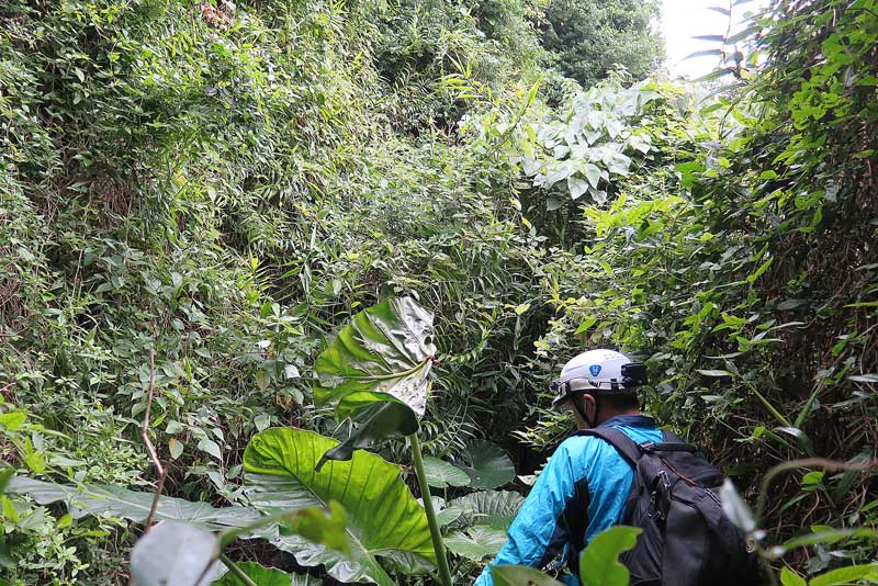
[[[214,559],[218,549],[219,540],[210,531],[166,521],[134,544],[131,574],[137,586],[207,585],[218,570]]]

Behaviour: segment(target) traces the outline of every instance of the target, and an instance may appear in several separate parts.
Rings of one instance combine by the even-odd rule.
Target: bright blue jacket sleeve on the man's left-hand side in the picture
[[[584,531],[584,527],[570,526],[569,512],[581,510],[582,503],[577,506],[577,502],[582,500],[583,496],[587,509],[587,494],[582,494],[583,488],[587,493],[587,485],[583,478],[584,454],[581,449],[574,449],[573,453],[576,453],[577,458],[575,460],[571,458],[571,448],[585,439],[565,440],[549,459],[509,527],[506,543],[497,557],[484,568],[475,586],[494,585],[491,567],[495,565],[542,567],[564,550],[570,541],[571,531]],[[584,516],[587,517],[587,512]],[[576,525],[579,526],[578,522]]]

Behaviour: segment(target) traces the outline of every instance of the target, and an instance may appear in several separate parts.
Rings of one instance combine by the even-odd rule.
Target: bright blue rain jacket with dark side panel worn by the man
[[[638,443],[662,441],[655,420],[645,415],[618,415],[599,427],[608,426]],[[572,436],[564,440],[521,505],[506,544],[475,586],[494,585],[494,565],[543,567],[562,552],[565,559],[575,555],[578,560],[597,533],[621,520],[632,478],[631,466],[603,439]],[[565,575],[564,582],[579,584],[572,575]]]

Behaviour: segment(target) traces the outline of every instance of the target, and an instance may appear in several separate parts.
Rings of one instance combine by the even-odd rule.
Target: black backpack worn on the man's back
[[[579,431],[609,442],[634,469],[622,525],[639,527],[633,550],[619,561],[631,585],[724,586],[761,584],[756,554],[722,512],[716,489],[723,475],[679,437],[637,443],[611,427]],[[587,572],[588,570],[585,568]]]

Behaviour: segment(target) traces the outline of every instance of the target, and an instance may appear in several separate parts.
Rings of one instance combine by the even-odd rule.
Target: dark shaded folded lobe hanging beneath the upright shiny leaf
[[[412,409],[395,401],[373,403],[363,407],[353,414],[353,420],[360,425],[353,429],[348,439],[323,454],[317,462],[318,472],[327,460],[350,460],[353,450],[369,448],[374,442],[393,436],[410,436],[418,430],[418,421],[413,416]],[[468,477],[466,482],[469,480]]]

